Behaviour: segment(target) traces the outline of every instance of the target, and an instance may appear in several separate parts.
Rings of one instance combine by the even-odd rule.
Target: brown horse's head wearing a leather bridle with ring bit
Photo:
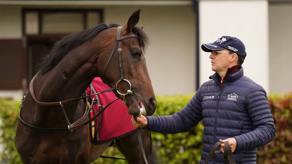
[[[114,92],[125,100],[129,114],[134,117],[152,115],[157,104],[142,51],[148,38],[141,27],[135,27],[139,15],[140,10],[137,10],[125,26],[109,28],[101,34],[103,38],[111,36],[103,45],[106,51],[101,52],[98,59],[98,65],[104,66],[98,68],[102,80],[110,87],[117,87]]]

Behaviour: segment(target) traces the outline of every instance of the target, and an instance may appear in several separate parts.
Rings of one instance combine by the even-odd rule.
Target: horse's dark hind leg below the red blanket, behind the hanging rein
[[[141,130],[143,146],[148,163],[150,163],[151,153],[151,136],[150,131]],[[137,132],[116,140],[116,146],[122,154],[126,157],[129,164],[131,163],[145,163],[140,149]]]

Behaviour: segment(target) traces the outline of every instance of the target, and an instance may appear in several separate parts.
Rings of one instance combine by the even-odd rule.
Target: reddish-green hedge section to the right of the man
[[[258,149],[258,163],[292,163],[292,93],[269,96],[269,105],[276,126],[276,137]]]

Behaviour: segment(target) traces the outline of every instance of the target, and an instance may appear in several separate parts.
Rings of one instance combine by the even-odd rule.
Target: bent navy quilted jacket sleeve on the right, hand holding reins
[[[263,87],[256,85],[247,96],[246,108],[255,129],[249,133],[235,136],[236,150],[247,150],[263,146],[276,135],[274,120]]]

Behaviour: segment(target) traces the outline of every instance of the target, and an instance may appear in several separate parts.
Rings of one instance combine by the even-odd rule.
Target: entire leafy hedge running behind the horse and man
[[[183,108],[192,95],[157,96],[158,115],[169,115]],[[0,118],[2,124],[0,143],[4,151],[0,154],[1,162],[21,163],[14,145],[15,129],[18,121],[20,101],[0,99]],[[276,124],[276,137],[269,144],[259,148],[257,163],[289,164],[292,163],[292,94],[270,95],[269,105]],[[162,134],[152,132],[153,148],[158,157],[158,163],[198,163],[201,158],[203,125],[200,122],[188,133]],[[103,154],[124,158],[116,147],[110,147]],[[123,160],[99,158],[99,163],[126,163]]]

